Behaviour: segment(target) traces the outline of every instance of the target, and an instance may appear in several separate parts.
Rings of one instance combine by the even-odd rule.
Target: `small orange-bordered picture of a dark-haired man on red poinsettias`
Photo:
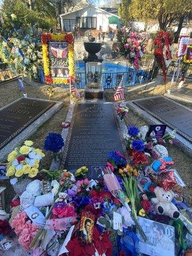
[[[79,225],[79,240],[92,243],[95,216],[90,212],[82,212]]]

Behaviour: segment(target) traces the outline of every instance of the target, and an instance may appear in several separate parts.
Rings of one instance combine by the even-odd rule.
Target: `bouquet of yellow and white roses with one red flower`
[[[33,141],[26,140],[24,145],[8,154],[6,176],[11,178],[36,177],[40,160],[45,155],[41,149],[32,146]]]

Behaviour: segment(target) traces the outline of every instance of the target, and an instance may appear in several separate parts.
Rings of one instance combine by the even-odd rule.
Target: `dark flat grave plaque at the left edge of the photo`
[[[22,98],[0,109],[0,149],[54,104],[45,100]]]

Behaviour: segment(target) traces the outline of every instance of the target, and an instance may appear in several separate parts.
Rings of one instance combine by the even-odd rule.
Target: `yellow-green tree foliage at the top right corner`
[[[143,21],[156,19],[159,28],[166,31],[177,20],[179,29],[182,28],[184,18],[191,13],[191,0],[122,0],[119,10],[120,17],[125,21],[130,18]]]

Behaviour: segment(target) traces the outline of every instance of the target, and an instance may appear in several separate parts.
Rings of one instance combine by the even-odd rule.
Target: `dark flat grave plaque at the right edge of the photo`
[[[134,100],[133,103],[192,142],[191,109],[163,96]]]

